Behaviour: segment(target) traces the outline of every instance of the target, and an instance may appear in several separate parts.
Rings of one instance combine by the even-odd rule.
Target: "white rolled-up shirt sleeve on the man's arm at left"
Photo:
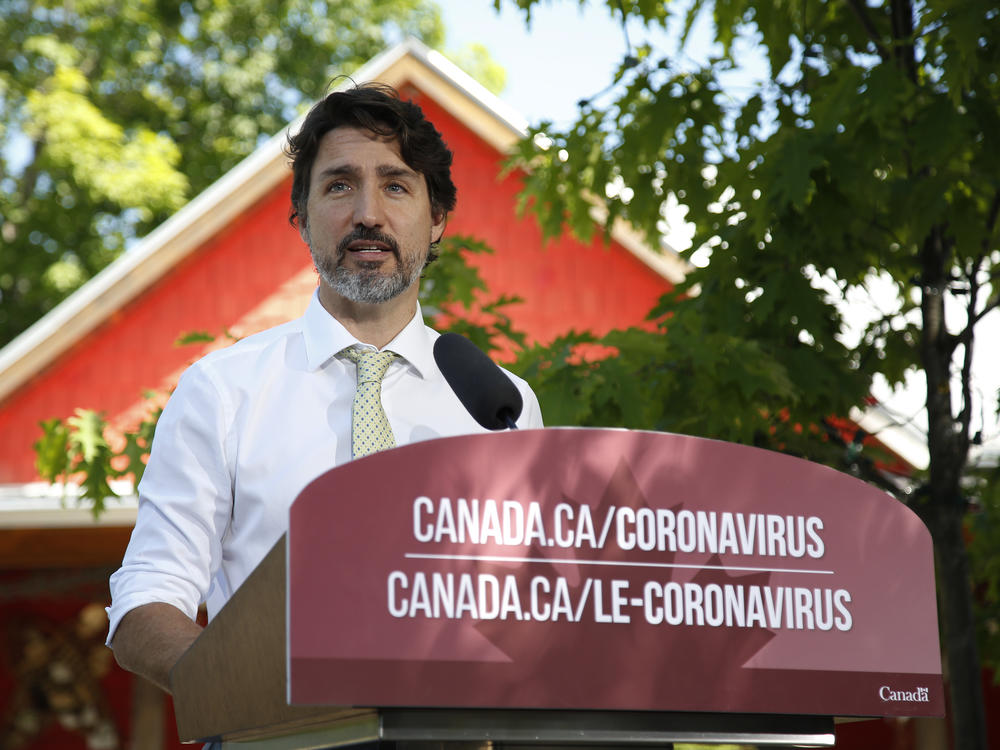
[[[108,645],[128,611],[163,602],[193,620],[208,595],[232,517],[228,407],[208,369],[196,363],[160,415],[135,529],[110,580]]]

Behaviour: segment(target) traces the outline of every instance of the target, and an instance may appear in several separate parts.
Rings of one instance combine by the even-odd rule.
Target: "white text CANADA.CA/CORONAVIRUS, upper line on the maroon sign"
[[[513,500],[413,501],[413,537],[421,543],[823,556],[823,520],[817,516],[729,511],[630,508],[609,505],[521,504]]]

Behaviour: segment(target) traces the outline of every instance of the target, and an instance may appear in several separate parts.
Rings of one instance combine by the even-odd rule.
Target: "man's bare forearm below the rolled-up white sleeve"
[[[115,660],[170,692],[170,670],[201,634],[201,626],[171,604],[143,604],[118,624],[111,648]]]

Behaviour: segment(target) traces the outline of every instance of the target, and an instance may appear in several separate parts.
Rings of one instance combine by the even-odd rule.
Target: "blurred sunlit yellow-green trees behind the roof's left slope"
[[[0,346],[404,35],[432,2],[0,0]]]

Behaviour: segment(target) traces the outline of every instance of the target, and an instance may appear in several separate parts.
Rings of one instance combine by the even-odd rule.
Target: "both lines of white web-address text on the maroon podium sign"
[[[674,580],[655,554],[737,555],[817,560],[825,552],[817,516],[602,506],[568,502],[417,497],[413,540],[435,553],[408,558],[477,564],[472,571],[392,570],[386,606],[397,618],[597,622],[649,625],[850,630],[851,595],[842,588],[768,585],[759,579]],[[457,554],[440,554],[452,550]],[[525,556],[526,551],[544,557]],[[558,556],[573,550],[573,556]],[[627,559],[583,559],[617,550]],[[636,556],[639,556],[638,558]],[[650,560],[653,561],[650,561]],[[558,570],[537,572],[531,564]],[[484,564],[515,570],[483,570]],[[608,571],[586,575],[581,570]],[[600,566],[600,567],[598,567]],[[629,568],[629,566],[632,566]],[[725,566],[715,567],[725,571]],[[622,570],[629,569],[625,576]],[[746,570],[746,569],[743,569]],[[763,570],[763,569],[761,569]],[[565,572],[564,572],[565,571]],[[788,571],[785,571],[788,572]],[[815,572],[815,571],[802,571]]]

